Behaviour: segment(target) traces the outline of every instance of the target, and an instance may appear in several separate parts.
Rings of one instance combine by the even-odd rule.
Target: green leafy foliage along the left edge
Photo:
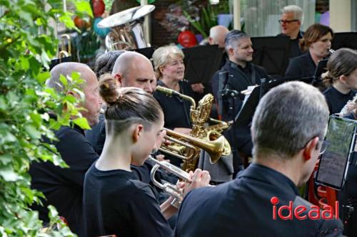
[[[77,10],[90,9],[86,1],[72,2],[80,7]],[[80,116],[74,97],[44,88],[49,78],[44,68],[58,44],[49,19],[74,26],[61,4],[61,0],[0,0],[0,236],[74,236],[61,224],[41,231],[38,214],[29,210],[43,196],[30,189],[30,163],[46,160],[66,166],[41,136],[54,139],[51,130],[69,125],[73,115]],[[67,86],[78,88],[79,75],[71,80]],[[51,119],[50,111],[59,118]],[[82,119],[77,124],[88,126]],[[61,223],[54,209],[50,216],[52,224]]]

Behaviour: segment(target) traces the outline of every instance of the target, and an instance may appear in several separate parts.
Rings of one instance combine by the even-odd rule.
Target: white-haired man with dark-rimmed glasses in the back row
[[[278,36],[289,36],[291,40],[291,50],[289,58],[300,56],[302,51],[298,45],[299,39],[303,38],[300,27],[303,23],[303,10],[296,5],[285,6],[279,20],[281,34]]]

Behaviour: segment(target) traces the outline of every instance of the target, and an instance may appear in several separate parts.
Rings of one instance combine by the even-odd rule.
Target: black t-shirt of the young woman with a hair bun
[[[125,170],[100,171],[94,163],[86,173],[83,205],[86,237],[172,233],[151,187]]]

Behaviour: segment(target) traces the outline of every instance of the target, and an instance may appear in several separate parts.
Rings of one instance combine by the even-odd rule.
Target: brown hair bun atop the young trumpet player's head
[[[106,73],[99,78],[99,94],[108,105],[114,105],[119,98],[116,78]]]

